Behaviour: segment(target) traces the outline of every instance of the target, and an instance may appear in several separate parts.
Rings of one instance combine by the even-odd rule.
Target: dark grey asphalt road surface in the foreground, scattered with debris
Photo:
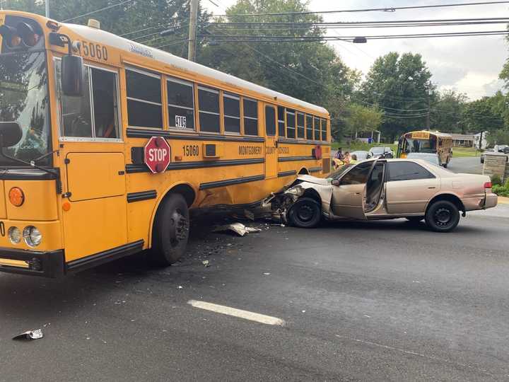
[[[0,274],[0,381],[501,380],[508,218],[476,212],[450,234],[254,223],[244,238],[202,222],[167,269],[136,255],[60,281]],[[11,340],[36,328],[41,340]]]

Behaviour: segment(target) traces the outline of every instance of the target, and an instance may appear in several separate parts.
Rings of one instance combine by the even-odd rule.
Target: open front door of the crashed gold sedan
[[[332,212],[337,218],[366,219],[380,201],[385,163],[365,161],[333,180]]]

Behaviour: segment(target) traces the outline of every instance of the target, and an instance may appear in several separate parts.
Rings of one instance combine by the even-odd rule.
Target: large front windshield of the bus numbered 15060
[[[23,137],[5,153],[37,160],[51,148],[45,52],[0,54],[0,121],[18,122]],[[49,165],[51,156],[37,161]],[[0,156],[0,166],[20,166]],[[21,165],[23,166],[23,165]]]

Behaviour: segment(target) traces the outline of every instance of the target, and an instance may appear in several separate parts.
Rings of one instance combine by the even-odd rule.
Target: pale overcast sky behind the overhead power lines
[[[235,0],[201,0],[201,5],[209,11],[222,14],[225,8],[235,4]],[[479,2],[481,0],[310,0],[311,11],[339,9],[385,8],[391,6],[416,6],[433,4],[455,4]],[[489,0],[488,0],[489,1]],[[324,16],[324,21],[396,21],[436,18],[487,18],[509,16],[509,4],[489,6],[462,6],[453,8],[431,8],[389,12],[333,13]],[[440,28],[440,29],[439,29]],[[334,35],[380,35],[461,32],[477,30],[504,30],[505,25],[460,25],[429,28],[376,28],[376,29],[338,29],[328,30]],[[383,33],[380,33],[383,32]],[[351,42],[329,42],[348,66],[364,74],[373,61],[388,52],[420,53],[433,74],[432,81],[438,88],[452,88],[466,93],[475,100],[491,96],[502,87],[498,80],[509,45],[503,36],[479,37],[440,37],[408,40],[370,40],[367,44]]]

